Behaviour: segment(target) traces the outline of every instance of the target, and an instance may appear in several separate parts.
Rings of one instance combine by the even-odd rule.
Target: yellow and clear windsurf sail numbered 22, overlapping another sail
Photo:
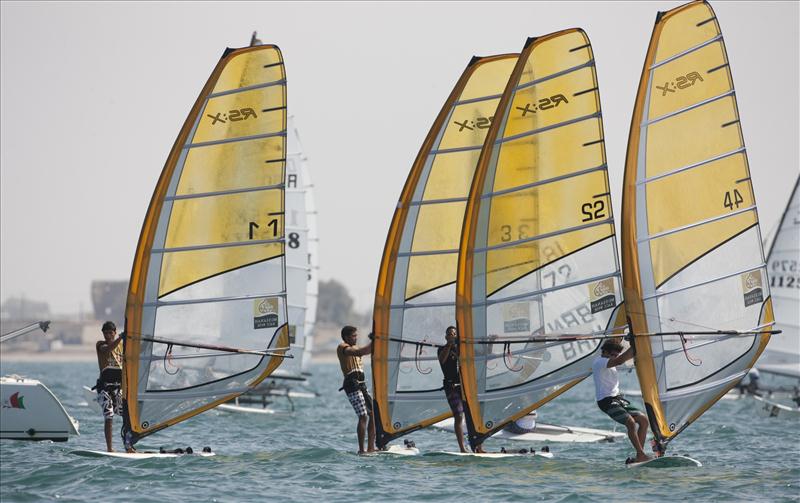
[[[473,449],[591,374],[622,298],[583,30],[528,39],[497,117],[472,182],[458,263]]]

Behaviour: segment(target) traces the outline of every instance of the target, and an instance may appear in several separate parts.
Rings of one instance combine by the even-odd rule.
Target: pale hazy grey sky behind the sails
[[[127,279],[172,143],[225,47],[280,46],[320,211],[320,276],[372,302],[411,163],[473,55],[581,27],[597,61],[614,208],[658,10],[680,2],[3,2],[0,297],[91,306]],[[763,232],[798,174],[796,2],[713,2]]]

